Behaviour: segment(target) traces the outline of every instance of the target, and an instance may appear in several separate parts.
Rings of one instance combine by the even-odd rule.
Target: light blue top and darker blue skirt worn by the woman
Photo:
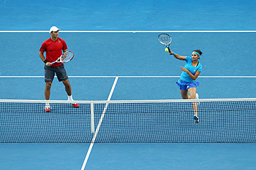
[[[187,56],[184,68],[186,68],[193,75],[195,75],[195,72],[197,71],[202,72],[202,64],[198,63],[197,66],[192,66],[192,61],[192,57]],[[187,74],[187,72],[182,72],[180,80],[178,80],[178,82],[176,83],[181,90],[187,90],[188,88],[196,88],[198,85],[200,85],[200,82],[192,80],[192,78],[189,76],[189,74]]]

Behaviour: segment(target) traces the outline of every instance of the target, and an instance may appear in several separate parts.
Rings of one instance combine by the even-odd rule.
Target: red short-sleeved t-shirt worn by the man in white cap
[[[46,52],[46,60],[50,63],[56,61],[62,54],[62,51],[67,50],[67,44],[64,39],[58,37],[58,39],[53,42],[52,39],[47,39],[42,43],[40,47],[40,52]],[[53,67],[61,66],[63,63],[53,63]]]

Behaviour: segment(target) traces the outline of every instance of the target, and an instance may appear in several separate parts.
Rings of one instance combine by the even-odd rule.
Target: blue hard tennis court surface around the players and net
[[[1,98],[44,99],[38,54],[52,25],[75,52],[65,64],[75,100],[181,99],[176,81],[184,62],[165,52],[160,32],[172,36],[178,54],[203,51],[200,98],[255,98],[254,1],[50,3],[1,2]],[[51,17],[52,10],[59,16]],[[56,78],[50,99],[67,99]],[[83,169],[85,161],[85,169],[255,169],[255,149],[255,143],[94,143],[91,150],[90,143],[1,143],[0,163],[4,170]]]

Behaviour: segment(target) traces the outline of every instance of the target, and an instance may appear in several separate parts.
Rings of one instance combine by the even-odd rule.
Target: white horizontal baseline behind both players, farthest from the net
[[[254,33],[255,30],[219,30],[219,31],[168,31],[168,30],[160,30],[160,31],[60,31],[61,33]],[[49,33],[49,31],[0,31],[0,33]]]

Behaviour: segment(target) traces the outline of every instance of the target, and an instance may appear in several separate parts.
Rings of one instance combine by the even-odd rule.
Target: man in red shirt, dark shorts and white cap
[[[45,63],[45,100],[50,99],[50,87],[56,74],[59,82],[63,82],[67,92],[68,100],[73,101],[71,86],[67,77],[67,72],[63,63],[53,63],[63,53],[67,51],[67,44],[64,39],[59,38],[59,28],[52,26],[50,28],[51,37],[42,43],[39,49],[39,57]],[[46,59],[44,53],[46,52]],[[79,104],[72,104],[74,107],[79,107]],[[50,104],[45,104],[45,112],[50,112]]]

